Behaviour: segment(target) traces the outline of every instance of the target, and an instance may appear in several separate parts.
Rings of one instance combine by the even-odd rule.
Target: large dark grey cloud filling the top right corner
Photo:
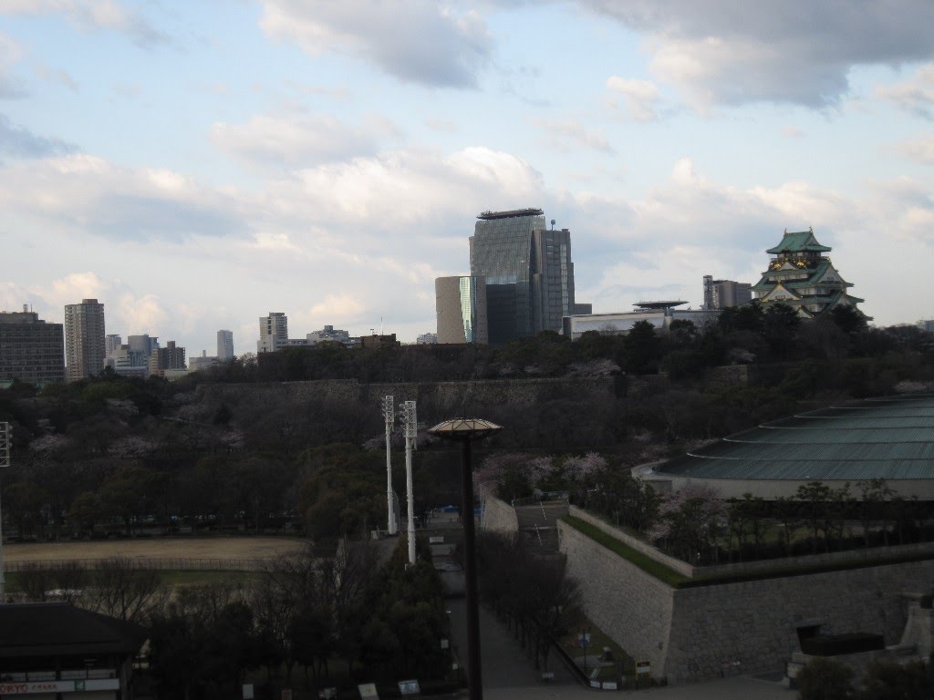
[[[732,0],[580,0],[647,35],[652,70],[700,111],[715,105],[836,104],[855,65],[927,60],[928,0],[738,7]]]

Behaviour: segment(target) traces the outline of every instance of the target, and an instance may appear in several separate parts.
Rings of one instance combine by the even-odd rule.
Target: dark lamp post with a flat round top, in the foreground
[[[474,471],[471,442],[498,433],[502,427],[481,418],[452,418],[429,432],[443,440],[460,442],[460,512],[464,528],[464,588],[467,595],[467,685],[471,700],[483,700],[480,673],[480,611],[476,590],[474,551]]]

